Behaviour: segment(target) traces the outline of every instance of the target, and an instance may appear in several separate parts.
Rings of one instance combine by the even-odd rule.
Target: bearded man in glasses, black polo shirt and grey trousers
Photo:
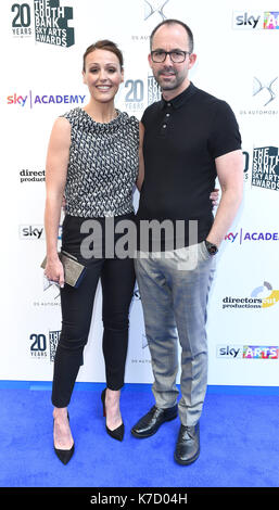
[[[180,464],[193,462],[200,452],[199,420],[207,384],[207,297],[216,253],[240,206],[243,182],[236,117],[225,101],[190,82],[188,73],[195,59],[187,25],[166,20],[154,28],[149,63],[162,89],[162,101],[150,105],[142,117],[144,181],[137,216],[139,224],[183,220],[185,239],[183,244],[181,235],[175,239],[169,256],[166,234],[160,254],[155,244],[155,250],[151,246],[139,253],[135,263],[155,406],[131,433],[149,437],[179,412],[175,459]],[[216,177],[221,199],[214,219],[210,193]],[[196,230],[191,232],[194,221]],[[187,266],[193,254],[195,264]],[[181,345],[178,406],[177,332]]]

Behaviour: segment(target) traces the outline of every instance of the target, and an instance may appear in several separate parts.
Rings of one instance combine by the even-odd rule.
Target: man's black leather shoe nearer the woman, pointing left
[[[157,432],[165,421],[174,420],[177,417],[177,405],[167,409],[158,409],[153,406],[131,429],[135,437],[150,437]]]

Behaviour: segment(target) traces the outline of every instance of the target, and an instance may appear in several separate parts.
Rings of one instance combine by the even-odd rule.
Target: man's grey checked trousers
[[[204,242],[166,253],[138,252],[135,259],[156,407],[177,403],[178,342],[181,346],[183,425],[198,423],[207,385],[206,306],[216,260]]]

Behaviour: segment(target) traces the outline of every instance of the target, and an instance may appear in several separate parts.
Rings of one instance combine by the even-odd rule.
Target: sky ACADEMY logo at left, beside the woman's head
[[[29,106],[33,109],[38,104],[75,104],[78,106],[83,104],[86,99],[86,95],[78,95],[78,94],[43,94],[38,95],[35,94],[31,90],[29,90],[28,94],[23,95],[14,92],[11,95],[7,97],[7,104],[13,104],[16,106]]]

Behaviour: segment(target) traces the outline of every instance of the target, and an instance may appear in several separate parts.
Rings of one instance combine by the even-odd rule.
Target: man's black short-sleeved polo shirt
[[[215,158],[241,149],[232,110],[190,84],[172,101],[151,104],[141,122],[144,181],[137,219],[185,220],[186,246],[188,221],[194,219],[198,242],[203,241],[213,224],[210,194],[217,176]]]

